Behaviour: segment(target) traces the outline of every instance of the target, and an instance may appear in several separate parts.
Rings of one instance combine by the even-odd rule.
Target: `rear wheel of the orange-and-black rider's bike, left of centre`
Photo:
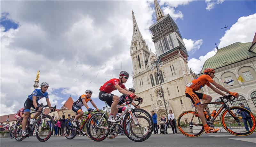
[[[76,137],[77,134],[76,127],[74,127],[71,123],[73,120],[73,118],[70,118],[64,124],[64,135],[67,139],[73,139]]]

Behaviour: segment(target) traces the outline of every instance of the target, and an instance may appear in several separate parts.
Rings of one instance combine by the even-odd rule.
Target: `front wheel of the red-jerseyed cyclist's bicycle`
[[[154,125],[151,115],[140,108],[132,109],[132,114],[138,124],[136,125],[129,113],[126,114],[123,121],[125,135],[135,142],[147,140],[152,134]]]

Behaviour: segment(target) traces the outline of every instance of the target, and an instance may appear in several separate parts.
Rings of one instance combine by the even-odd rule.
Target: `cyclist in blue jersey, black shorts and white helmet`
[[[28,121],[28,117],[30,114],[30,108],[34,108],[36,110],[41,110],[41,107],[37,107],[39,105],[38,100],[45,97],[47,104],[49,107],[51,107],[51,103],[49,101],[49,94],[47,91],[49,84],[47,82],[41,83],[41,89],[35,89],[32,94],[28,95],[28,99],[24,103],[24,117],[22,121],[22,137],[28,135],[27,132],[25,132],[26,129],[26,123]],[[50,108],[52,109],[52,108]],[[36,121],[36,118],[39,116],[40,113],[36,113],[33,118],[30,119],[29,124],[33,125],[33,123]]]

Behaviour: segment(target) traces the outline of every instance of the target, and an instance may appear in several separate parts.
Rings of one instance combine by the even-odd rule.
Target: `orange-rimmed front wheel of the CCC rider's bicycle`
[[[220,117],[221,125],[228,133],[236,136],[247,136],[255,131],[256,119],[252,112],[242,107],[230,107],[230,110],[231,112],[228,112],[227,109],[224,110]],[[241,113],[248,114],[248,117],[243,119]]]

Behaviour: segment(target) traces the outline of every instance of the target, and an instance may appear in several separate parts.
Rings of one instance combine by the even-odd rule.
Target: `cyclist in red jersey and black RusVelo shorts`
[[[130,92],[127,88],[125,88],[124,83],[126,83],[128,78],[128,72],[121,71],[119,74],[119,78],[110,79],[100,87],[99,99],[102,101],[106,101],[108,106],[111,107],[110,115],[108,118],[108,121],[110,122],[117,122],[115,120],[116,114],[118,112],[118,108],[116,106],[120,100],[118,96],[111,93],[112,91],[118,90],[122,94],[129,95],[133,100],[139,98],[134,93]],[[141,102],[142,101],[143,100],[141,99]]]

